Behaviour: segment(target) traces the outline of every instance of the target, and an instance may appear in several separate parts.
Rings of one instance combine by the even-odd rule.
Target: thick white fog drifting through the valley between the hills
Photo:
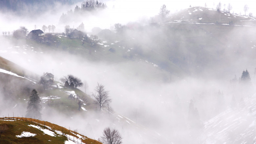
[[[129,22],[138,22],[141,26],[145,26],[146,24],[141,22],[142,19],[149,21],[151,16],[158,14],[160,6],[166,1],[161,1],[158,4],[146,1],[105,2],[108,6],[107,9],[95,14],[88,12],[85,18],[78,16],[79,22],[73,21],[66,24],[59,22],[62,13],[74,9],[75,5],[80,6],[81,2],[65,6],[56,4],[57,9],[46,9],[38,17],[32,17],[26,12],[23,16],[13,15],[11,12],[2,13],[0,21],[3,23],[0,24],[0,31],[13,31],[20,26],[25,26],[31,31],[34,29],[33,25],[36,25],[36,29],[41,29],[42,25],[56,25],[55,31],[62,33],[65,25],[76,28],[81,22],[85,24],[88,34],[93,27],[110,29],[110,25],[113,26],[115,23],[126,25]],[[131,3],[136,3],[136,5],[129,5]],[[181,3],[184,1],[175,3],[177,5],[173,3],[168,5],[166,2],[166,5],[180,10],[183,8]],[[198,1],[194,5],[197,6],[199,3],[202,2]],[[115,7],[112,8],[112,6]],[[133,11],[130,11],[131,8]],[[172,12],[175,11],[172,10]],[[188,27],[190,26],[186,25],[183,28],[189,29]],[[215,26],[200,26],[200,28],[202,27]],[[87,90],[89,96],[95,92],[94,89],[99,82],[105,85],[109,91],[109,96],[112,99],[111,106],[115,111],[113,117],[93,110],[85,113],[60,113],[53,107],[43,104],[43,120],[77,130],[78,133],[96,140],[102,136],[103,129],[110,126],[121,132],[123,143],[203,143],[207,138],[201,136],[201,139],[198,140],[199,135],[203,135],[205,131],[201,124],[221,112],[232,109],[234,99],[238,105],[242,101],[241,99],[246,99],[247,96],[252,96],[254,93],[255,51],[250,46],[256,45],[256,39],[252,37],[255,30],[232,27],[227,31],[227,36],[213,31],[213,39],[207,40],[202,39],[206,36],[202,31],[175,33],[173,30],[171,31],[173,33],[170,34],[168,33],[170,29],[172,30],[169,27],[149,27],[138,31],[127,30],[124,32],[125,36],[118,35],[117,40],[122,42],[120,42],[120,47],[135,47],[137,50],[135,45],[139,45],[139,50],[142,51],[140,53],[138,50],[139,52],[135,53],[131,59],[122,56],[120,61],[104,59],[103,56],[102,59],[94,60],[94,57],[101,56],[98,51],[103,48],[100,47],[89,47],[94,52],[83,56],[79,52],[72,53],[59,47],[53,48],[41,43],[27,45],[25,40],[11,40],[2,36],[0,38],[0,56],[26,69],[27,75],[41,76],[44,72],[50,72],[54,74],[55,81],[59,81],[67,74],[72,74],[82,81],[86,80],[89,85]],[[219,42],[219,44],[212,45],[214,43],[212,42],[209,44],[210,46],[203,44],[198,47],[197,45],[191,46],[192,40],[189,42],[185,33],[191,34],[191,37],[195,33],[195,35],[199,35],[193,39],[196,44],[201,42],[208,44],[210,41]],[[215,38],[217,36],[218,40]],[[63,38],[63,36],[61,37]],[[113,37],[113,39],[115,38]],[[134,38],[136,42],[123,42],[124,39],[131,38]],[[165,41],[172,42],[169,44]],[[114,43],[111,40],[108,42]],[[158,43],[154,45],[155,42]],[[163,62],[168,61],[168,58],[165,59],[165,55],[160,52],[166,50],[162,48],[165,46],[177,47],[177,49],[171,49],[171,52],[168,51],[170,57],[180,54],[177,60],[170,60],[168,57],[171,64],[167,66]],[[107,51],[107,49],[104,50]],[[152,53],[154,55],[151,55]],[[202,53],[205,56],[202,56]],[[129,55],[127,52],[124,54]],[[161,57],[163,58],[161,59]],[[159,63],[157,63],[158,61]],[[152,63],[158,66],[154,66]],[[250,72],[251,85],[241,86],[241,83],[230,82],[235,75],[239,79],[243,70],[246,69]],[[5,76],[0,77],[1,80],[4,80],[3,77]],[[23,82],[21,80],[10,81],[6,85],[10,87],[12,85],[11,89],[15,89],[17,83],[22,85]],[[4,85],[2,83],[1,87]],[[25,85],[29,85],[29,83],[25,83]],[[79,89],[84,91],[82,87]],[[2,93],[5,92],[4,88],[1,90]],[[26,102],[14,100],[14,97],[6,99],[5,95],[0,95],[0,115],[8,116],[10,114],[12,116],[12,112],[14,116],[26,114]],[[193,110],[196,108],[198,111],[199,123],[192,121],[198,118],[196,114],[190,117],[191,100],[193,101]],[[118,118],[120,117],[117,115],[127,117],[136,123],[119,122]]]

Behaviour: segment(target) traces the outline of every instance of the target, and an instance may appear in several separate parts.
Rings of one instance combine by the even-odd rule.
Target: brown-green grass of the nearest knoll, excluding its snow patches
[[[17,118],[17,117],[14,117]],[[21,119],[21,117],[19,117],[19,119]],[[44,122],[44,121],[40,121],[37,119],[33,119],[32,121],[34,122],[30,122],[29,120],[31,120],[30,118],[27,118],[28,121],[25,121],[25,118],[23,118],[24,121],[21,120],[16,120],[16,121],[3,121],[0,120],[0,125],[2,124],[7,124],[8,126],[8,130],[6,131],[6,133],[3,133],[1,138],[0,138],[0,143],[1,144],[5,144],[5,143],[13,143],[13,144],[21,144],[21,143],[40,143],[40,144],[53,144],[53,143],[64,143],[67,138],[63,135],[58,135],[57,136],[50,136],[47,134],[44,134],[41,130],[38,130],[36,128],[30,127],[28,125],[32,124],[32,125],[38,125],[40,127],[42,127],[43,129],[47,129],[45,128],[43,125],[45,124],[46,126],[51,127],[51,129],[53,130],[58,130],[58,131],[63,131],[64,134],[68,134],[68,135],[72,135],[75,136],[76,138],[78,138],[78,136],[74,135],[74,134],[78,134],[74,131],[68,130],[66,128],[63,128],[61,126],[58,126],[56,124],[52,124],[50,122]],[[40,124],[37,124],[40,123]],[[22,137],[22,138],[18,138],[16,137],[16,135],[21,135],[22,132],[30,132],[33,134],[36,134],[33,137]],[[74,133],[74,134],[73,134]],[[79,134],[80,135],[80,134]],[[83,135],[81,135],[83,136]],[[83,136],[86,137],[86,136]],[[51,141],[49,141],[51,140]],[[100,142],[90,139],[88,137],[86,137],[86,139],[82,140],[83,143],[92,143],[92,144],[101,144]]]

